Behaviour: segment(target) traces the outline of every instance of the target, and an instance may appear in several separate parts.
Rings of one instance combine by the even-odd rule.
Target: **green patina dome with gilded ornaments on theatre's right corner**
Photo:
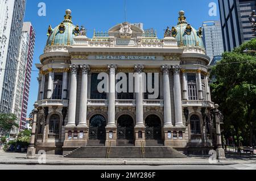
[[[195,30],[190,24],[187,23],[184,16],[184,11],[179,12],[179,22],[177,26],[172,27],[172,30],[166,32],[165,36],[172,36],[177,39],[179,47],[201,47],[204,48],[202,39],[202,29]]]

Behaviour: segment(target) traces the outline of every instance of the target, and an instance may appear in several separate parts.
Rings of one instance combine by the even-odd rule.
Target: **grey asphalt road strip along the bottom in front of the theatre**
[[[0,165],[0,170],[256,170],[256,164],[240,164],[228,166]]]

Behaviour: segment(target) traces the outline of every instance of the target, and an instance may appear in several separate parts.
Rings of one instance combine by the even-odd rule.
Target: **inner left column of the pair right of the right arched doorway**
[[[170,92],[170,65],[162,65],[163,71],[163,92],[164,92],[164,127],[173,127],[171,113],[171,92]]]

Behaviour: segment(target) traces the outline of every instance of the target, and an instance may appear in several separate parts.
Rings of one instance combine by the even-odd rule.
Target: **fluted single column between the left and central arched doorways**
[[[116,65],[108,65],[109,69],[109,105],[108,105],[108,125],[115,127],[115,69]]]

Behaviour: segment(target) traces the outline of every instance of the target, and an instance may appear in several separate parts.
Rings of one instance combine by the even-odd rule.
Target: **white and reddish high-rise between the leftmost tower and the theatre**
[[[35,31],[30,22],[24,22],[20,39],[19,58],[15,81],[15,93],[12,113],[18,117],[19,131],[26,128],[28,94],[32,61],[35,47]],[[15,130],[17,132],[18,130]]]

